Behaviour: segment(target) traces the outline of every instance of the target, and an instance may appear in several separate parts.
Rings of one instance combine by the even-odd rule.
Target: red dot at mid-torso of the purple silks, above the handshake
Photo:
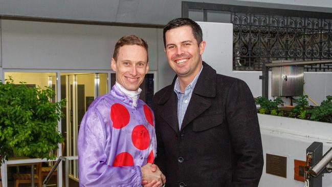
[[[131,133],[131,140],[134,143],[135,148],[139,150],[145,150],[150,144],[150,134],[143,124],[137,125]]]

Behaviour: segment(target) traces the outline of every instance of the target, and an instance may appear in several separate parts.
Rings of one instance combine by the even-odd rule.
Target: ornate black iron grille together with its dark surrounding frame
[[[189,11],[229,12],[233,24],[233,70],[261,71],[272,60],[332,59],[332,14],[225,4],[182,2]],[[221,14],[220,14],[221,15]],[[331,72],[332,64],[305,66],[305,71]]]

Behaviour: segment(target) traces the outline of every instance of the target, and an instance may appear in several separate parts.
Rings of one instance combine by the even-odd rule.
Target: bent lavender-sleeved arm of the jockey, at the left
[[[102,121],[94,108],[88,110],[82,119],[78,135],[80,186],[141,186],[141,167],[113,167],[107,164],[104,152],[106,127]]]

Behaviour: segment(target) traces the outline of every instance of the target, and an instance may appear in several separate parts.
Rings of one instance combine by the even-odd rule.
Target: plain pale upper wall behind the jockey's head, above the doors
[[[2,20],[3,68],[108,70],[116,41],[136,34],[157,70],[157,29]]]

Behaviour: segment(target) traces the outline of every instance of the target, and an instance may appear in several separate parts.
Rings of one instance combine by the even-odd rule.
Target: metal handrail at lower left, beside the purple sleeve
[[[47,175],[47,177],[45,178],[45,180],[42,182],[42,186],[46,187],[47,183],[49,182],[53,172],[55,171],[55,169],[58,167],[58,165],[61,163],[61,161],[64,161],[64,186],[65,187],[69,187],[69,160],[77,160],[78,156],[60,156],[59,159],[56,161],[56,163],[54,164],[52,170],[50,171],[50,173]]]

